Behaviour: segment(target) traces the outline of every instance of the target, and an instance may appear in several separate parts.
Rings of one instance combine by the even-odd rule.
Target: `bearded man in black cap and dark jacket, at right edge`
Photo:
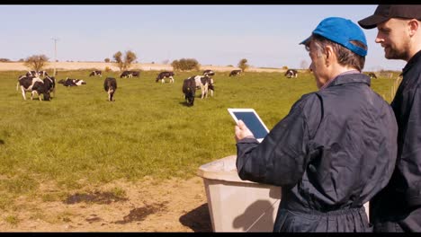
[[[391,106],[398,121],[398,157],[388,186],[370,201],[375,232],[421,232],[421,5],[381,4],[359,21],[377,27],[384,57],[407,61]]]

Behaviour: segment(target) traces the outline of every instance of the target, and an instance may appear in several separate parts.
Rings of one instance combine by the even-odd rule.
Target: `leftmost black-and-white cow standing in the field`
[[[23,100],[26,101],[26,92],[31,92],[31,100],[33,100],[33,95],[38,94],[38,99],[40,101],[40,94],[43,95],[44,101],[49,101],[49,88],[51,84],[49,79],[41,80],[40,77],[35,76],[21,76],[19,77],[18,84],[21,86]]]

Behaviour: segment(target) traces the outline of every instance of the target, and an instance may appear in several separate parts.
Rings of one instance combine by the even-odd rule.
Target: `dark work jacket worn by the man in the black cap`
[[[371,202],[372,223],[379,232],[421,232],[421,51],[402,75],[391,102],[399,126],[396,168]]]

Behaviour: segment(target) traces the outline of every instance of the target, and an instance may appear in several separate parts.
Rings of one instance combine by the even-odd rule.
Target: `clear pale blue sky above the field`
[[[318,22],[340,16],[357,22],[377,5],[352,4],[122,4],[0,5],[0,57],[18,60],[44,54],[59,61],[103,61],[134,51],[140,63],[196,58],[202,65],[300,68],[309,56],[301,40]],[[387,60],[374,43],[377,30],[364,30],[364,70],[400,70],[406,62]]]

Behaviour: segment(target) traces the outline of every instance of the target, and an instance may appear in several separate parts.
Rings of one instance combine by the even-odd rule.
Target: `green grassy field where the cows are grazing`
[[[37,193],[42,182],[67,190],[112,180],[188,179],[199,166],[236,154],[234,121],[228,108],[254,108],[271,129],[304,93],[316,91],[312,75],[287,79],[280,73],[217,73],[215,95],[184,106],[183,79],[156,83],[156,71],[139,78],[118,73],[89,77],[90,71],[59,72],[83,79],[79,87],[57,85],[52,101],[23,101],[18,75],[0,73],[0,208],[20,195]],[[116,101],[107,101],[103,80],[118,81]],[[393,80],[372,80],[390,101]],[[27,93],[30,98],[30,93]]]

